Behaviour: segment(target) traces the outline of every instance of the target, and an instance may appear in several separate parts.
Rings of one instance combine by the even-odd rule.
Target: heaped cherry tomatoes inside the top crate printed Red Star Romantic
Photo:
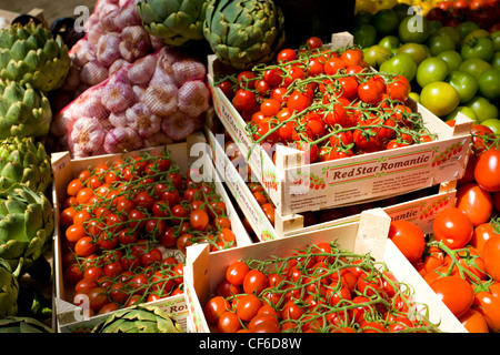
[[[253,142],[303,150],[309,163],[433,140],[408,105],[404,77],[372,72],[359,48],[332,50],[317,37],[217,85]]]

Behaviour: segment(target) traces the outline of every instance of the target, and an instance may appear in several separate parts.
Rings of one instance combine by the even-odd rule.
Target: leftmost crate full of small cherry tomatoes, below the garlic
[[[204,136],[124,154],[52,155],[56,321],[86,332],[110,312],[154,303],[186,328],[186,247],[251,243]],[[197,152],[197,156],[191,156]]]

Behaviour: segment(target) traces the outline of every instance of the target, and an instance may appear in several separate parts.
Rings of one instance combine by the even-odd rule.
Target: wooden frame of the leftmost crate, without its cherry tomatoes
[[[206,139],[202,133],[196,133],[190,135],[186,142],[167,145],[171,153],[172,160],[179,165],[181,173],[186,174],[189,168],[194,164],[203,164],[203,179],[206,181],[216,182],[216,191],[221,195],[228,210],[228,216],[231,221],[231,229],[237,236],[237,245],[244,246],[252,244],[250,236],[248,235],[244,226],[242,225],[238,213],[231,204],[231,200],[226,192],[223,185],[220,183],[221,179],[217,176],[217,171],[208,154],[203,152],[207,149]],[[78,176],[79,172],[89,166],[96,166],[102,162],[113,162],[124,155],[136,156],[139,152],[147,151],[151,155],[159,154],[163,151],[163,146],[144,149],[140,151],[131,152],[130,154],[109,154],[91,156],[78,160],[71,160],[69,152],[61,152],[52,154],[52,170],[54,175],[52,196],[54,201],[54,316],[58,331],[61,333],[68,332],[82,332],[89,329],[94,325],[100,317],[89,317],[88,313],[83,312],[81,307],[72,304],[73,291],[64,287],[62,262],[61,262],[61,239],[64,237],[61,233],[61,226],[59,223],[59,215],[61,213],[61,203],[66,199],[66,186],[68,183]],[[200,156],[201,155],[201,156]],[[178,250],[166,250],[166,253],[177,252]],[[177,295],[166,297],[156,302],[166,308],[170,314],[176,316],[179,323],[186,329],[187,307],[183,295]]]

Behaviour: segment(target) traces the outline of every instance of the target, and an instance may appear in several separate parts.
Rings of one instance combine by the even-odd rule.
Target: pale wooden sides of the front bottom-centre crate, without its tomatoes
[[[391,219],[381,209],[363,211],[359,222],[303,233],[286,239],[256,243],[233,250],[209,253],[208,246],[198,244],[188,247],[184,266],[184,296],[189,310],[189,332],[210,333],[202,306],[214,294],[223,280],[226,268],[234,261],[263,260],[270,256],[288,256],[294,248],[303,248],[318,242],[337,241],[341,248],[359,254],[370,253],[376,261],[383,262],[399,282],[409,284],[413,300],[428,306],[428,318],[439,324],[442,332],[466,333],[466,328],[439,300],[420,274],[413,268],[398,247],[387,237]],[[423,310],[418,310],[422,312]]]

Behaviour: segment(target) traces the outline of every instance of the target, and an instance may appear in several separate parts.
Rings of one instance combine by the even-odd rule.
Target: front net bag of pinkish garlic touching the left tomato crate
[[[84,158],[183,141],[201,130],[210,105],[206,64],[163,47],[122,65],[58,112],[51,150]]]

